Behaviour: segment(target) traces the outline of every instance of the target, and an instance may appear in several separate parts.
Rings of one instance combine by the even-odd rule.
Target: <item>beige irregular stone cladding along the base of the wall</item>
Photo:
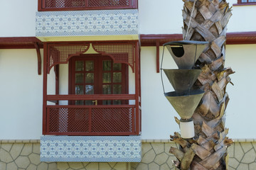
[[[0,140],[0,170],[169,170],[175,169],[169,154],[170,147],[177,147],[168,140],[147,140],[142,143],[142,162],[40,162],[40,141]],[[255,140],[235,141],[228,148],[229,170],[256,170]]]

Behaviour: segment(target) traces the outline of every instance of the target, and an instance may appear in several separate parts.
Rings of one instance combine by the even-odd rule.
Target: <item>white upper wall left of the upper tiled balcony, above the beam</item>
[[[0,1],[0,37],[29,37],[36,35],[35,0],[1,0]]]

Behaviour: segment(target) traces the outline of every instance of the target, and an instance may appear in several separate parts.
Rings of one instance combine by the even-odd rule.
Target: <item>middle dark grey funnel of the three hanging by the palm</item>
[[[166,77],[177,93],[182,93],[191,89],[201,69],[163,69]]]

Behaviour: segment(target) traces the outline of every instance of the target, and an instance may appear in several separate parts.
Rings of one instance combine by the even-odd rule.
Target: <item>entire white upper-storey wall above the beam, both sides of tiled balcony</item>
[[[237,0],[228,2],[233,6]],[[139,33],[182,33],[182,8],[181,0],[139,0]],[[252,22],[256,14],[255,8],[256,6],[233,6],[228,32],[255,31],[256,23]],[[0,37],[35,36],[37,10],[38,1],[34,0],[0,1]]]

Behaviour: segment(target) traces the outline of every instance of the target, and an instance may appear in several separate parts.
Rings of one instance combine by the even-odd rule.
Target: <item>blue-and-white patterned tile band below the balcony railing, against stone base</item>
[[[140,162],[140,136],[43,136],[41,162]]]

